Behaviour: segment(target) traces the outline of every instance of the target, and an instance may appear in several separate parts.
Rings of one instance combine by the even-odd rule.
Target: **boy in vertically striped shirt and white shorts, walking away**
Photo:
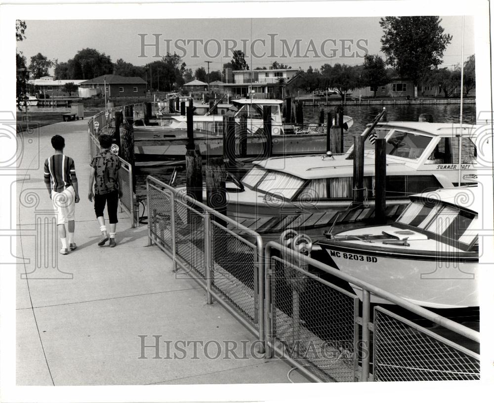
[[[66,255],[69,249],[74,250],[77,247],[74,242],[75,203],[79,202],[76,167],[74,160],[63,153],[65,139],[62,136],[53,136],[51,145],[55,154],[44,161],[44,183],[57,213],[58,235],[62,242],[60,253]],[[69,227],[68,245],[65,223]]]

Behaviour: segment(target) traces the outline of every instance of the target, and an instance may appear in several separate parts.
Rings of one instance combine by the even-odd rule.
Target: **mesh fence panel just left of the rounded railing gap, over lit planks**
[[[257,321],[257,249],[256,246],[211,222],[211,283],[251,321]]]

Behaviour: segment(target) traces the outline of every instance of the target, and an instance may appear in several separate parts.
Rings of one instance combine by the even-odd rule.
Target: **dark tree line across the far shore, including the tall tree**
[[[300,70],[297,73],[292,85],[307,92],[335,89],[342,98],[355,88],[369,86],[375,97],[380,86],[400,77],[412,81],[414,85],[436,87],[438,95],[449,97],[460,85],[461,77],[459,66],[453,69],[438,67],[452,40],[451,35],[444,33],[440,23],[441,19],[435,16],[381,18],[381,51],[386,56],[385,59],[379,55],[367,54],[361,65],[324,64],[320,69],[310,66],[307,71]],[[16,40],[25,38],[26,28],[24,21],[17,21]],[[17,52],[16,64],[18,69],[26,68],[27,61],[22,52]],[[116,74],[140,77],[150,88],[159,91],[178,90],[194,79],[203,82],[225,81],[227,68],[249,70],[245,54],[241,50],[235,50],[231,61],[222,67],[221,71],[214,70],[209,74],[204,67],[193,71],[175,53],[167,53],[162,59],[144,66],[134,66],[123,59],[112,62],[109,55],[92,48],[78,51],[67,62],[48,60],[38,53],[31,57],[29,64],[34,78],[47,76],[50,68],[54,68],[54,76],[59,80],[90,80],[106,74]],[[274,61],[268,67],[257,67],[255,70],[286,68],[290,67]],[[284,80],[279,79],[280,83],[284,83]],[[464,93],[468,94],[474,86],[475,55],[471,55],[464,62]]]

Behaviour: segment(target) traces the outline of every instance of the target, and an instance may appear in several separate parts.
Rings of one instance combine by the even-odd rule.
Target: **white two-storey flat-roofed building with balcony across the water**
[[[223,89],[233,97],[246,97],[249,91],[258,99],[281,99],[284,86],[297,74],[298,69],[233,70],[226,72]],[[232,79],[229,77],[233,76]],[[252,92],[253,91],[253,92]]]

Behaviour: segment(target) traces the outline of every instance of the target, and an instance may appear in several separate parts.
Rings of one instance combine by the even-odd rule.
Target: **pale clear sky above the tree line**
[[[441,18],[445,33],[453,35],[443,64],[460,63],[461,16]],[[193,70],[207,69],[205,61],[211,61],[211,71],[220,70],[230,61],[232,49],[238,48],[247,50],[247,64],[253,69],[275,60],[307,70],[325,63],[361,64],[366,51],[384,56],[378,17],[26,20],[26,24],[26,39],[17,42],[17,48],[28,63],[39,52],[66,62],[86,47],[109,55],[113,62],[121,58],[137,66],[175,51]],[[466,16],[464,59],[474,53],[474,18]]]

